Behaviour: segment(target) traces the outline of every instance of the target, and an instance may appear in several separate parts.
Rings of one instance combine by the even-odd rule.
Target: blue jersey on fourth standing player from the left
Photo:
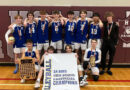
[[[62,40],[62,24],[60,21],[58,22],[52,22],[51,25],[51,40],[52,42],[57,42],[59,40]]]

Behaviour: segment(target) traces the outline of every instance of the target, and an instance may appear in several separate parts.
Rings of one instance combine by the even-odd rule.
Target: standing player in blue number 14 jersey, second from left
[[[33,47],[37,47],[37,23],[34,20],[34,14],[28,12],[27,18],[24,20],[25,38],[33,41]]]

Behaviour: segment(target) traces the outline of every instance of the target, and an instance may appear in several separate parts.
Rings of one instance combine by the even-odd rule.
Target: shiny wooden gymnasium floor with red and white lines
[[[13,74],[13,66],[0,66],[0,90],[35,90],[35,80],[20,84],[19,74]],[[100,76],[98,82],[89,77],[89,85],[81,90],[130,90],[130,68],[112,68],[113,76],[106,73]],[[42,89],[41,88],[38,90]]]

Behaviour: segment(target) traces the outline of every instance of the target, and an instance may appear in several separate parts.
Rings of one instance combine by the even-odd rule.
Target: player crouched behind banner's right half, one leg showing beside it
[[[65,51],[66,53],[73,53],[72,52],[72,46],[71,45],[66,45],[65,47]],[[78,65],[78,74],[79,74],[79,81],[80,81],[80,86],[85,86],[88,84],[87,80],[83,78],[83,67],[82,65],[80,64],[80,61],[79,61],[79,58],[78,58],[78,55],[76,54],[76,58],[77,58],[77,65]]]

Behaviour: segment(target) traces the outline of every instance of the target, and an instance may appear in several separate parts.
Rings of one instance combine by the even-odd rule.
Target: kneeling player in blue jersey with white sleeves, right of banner
[[[98,81],[99,79],[99,63],[101,61],[101,50],[96,48],[97,46],[97,39],[91,40],[91,47],[86,49],[84,54],[84,62],[83,62],[83,68],[84,68],[84,78],[87,77],[87,69],[90,69],[92,72],[93,80]],[[94,58],[94,61],[92,65],[91,60],[92,57]]]

